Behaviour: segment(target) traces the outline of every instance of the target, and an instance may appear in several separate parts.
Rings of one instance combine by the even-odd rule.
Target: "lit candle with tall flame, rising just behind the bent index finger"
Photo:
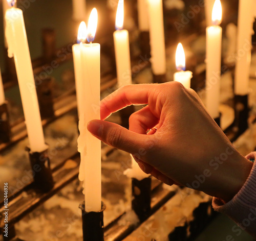
[[[118,88],[132,84],[129,33],[123,28],[123,0],[119,0],[116,12],[114,45]]]

